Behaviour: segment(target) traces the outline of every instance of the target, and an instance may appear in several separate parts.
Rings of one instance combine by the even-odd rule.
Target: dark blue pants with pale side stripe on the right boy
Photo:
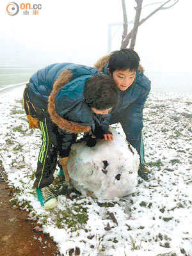
[[[145,164],[144,145],[141,133],[143,128],[143,121],[142,118],[139,120],[137,119],[136,122],[134,122],[134,120],[136,119],[129,115],[129,109],[125,109],[120,113],[112,114],[110,124],[120,122],[125,132],[126,140],[132,145],[132,147],[136,148],[140,156],[140,163]]]

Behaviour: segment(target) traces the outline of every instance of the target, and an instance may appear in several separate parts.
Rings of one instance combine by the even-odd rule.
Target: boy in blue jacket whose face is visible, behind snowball
[[[140,155],[138,175],[147,180],[149,170],[145,164],[142,139],[143,108],[150,92],[150,81],[143,74],[140,57],[131,49],[122,49],[100,58],[94,66],[113,77],[119,90],[118,106],[112,109],[110,124],[120,122],[127,141]]]

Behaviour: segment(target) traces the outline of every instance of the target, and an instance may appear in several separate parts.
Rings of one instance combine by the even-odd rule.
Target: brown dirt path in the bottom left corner
[[[12,206],[12,189],[0,183],[0,250],[6,256],[58,256],[56,245],[49,236],[36,230],[28,212]]]

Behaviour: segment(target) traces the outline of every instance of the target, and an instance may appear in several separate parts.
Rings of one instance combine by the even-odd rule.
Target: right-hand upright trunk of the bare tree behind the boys
[[[130,44],[130,49],[132,49],[132,50],[134,50],[136,36],[138,33],[138,27],[140,26],[141,8],[142,8],[142,3],[143,3],[143,0],[135,0],[135,1],[137,3],[137,7],[136,7],[136,15],[135,15],[135,19],[134,19],[134,26],[132,29],[131,44]]]

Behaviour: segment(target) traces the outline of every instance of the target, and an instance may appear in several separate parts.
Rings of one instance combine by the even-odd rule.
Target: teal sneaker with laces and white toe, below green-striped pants
[[[48,187],[36,188],[38,200],[45,210],[52,209],[58,205],[56,197],[52,194]]]

